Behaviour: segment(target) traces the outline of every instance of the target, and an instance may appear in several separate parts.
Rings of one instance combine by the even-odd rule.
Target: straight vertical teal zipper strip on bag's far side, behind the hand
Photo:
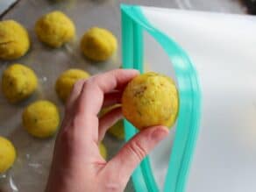
[[[143,73],[143,38],[142,28],[125,13],[122,12],[122,55],[123,68],[137,68]],[[124,46],[125,45],[125,46]],[[128,141],[137,133],[137,129],[124,120],[125,140]],[[149,158],[146,157],[132,174],[132,181],[136,191],[157,192],[158,187],[154,181]]]

